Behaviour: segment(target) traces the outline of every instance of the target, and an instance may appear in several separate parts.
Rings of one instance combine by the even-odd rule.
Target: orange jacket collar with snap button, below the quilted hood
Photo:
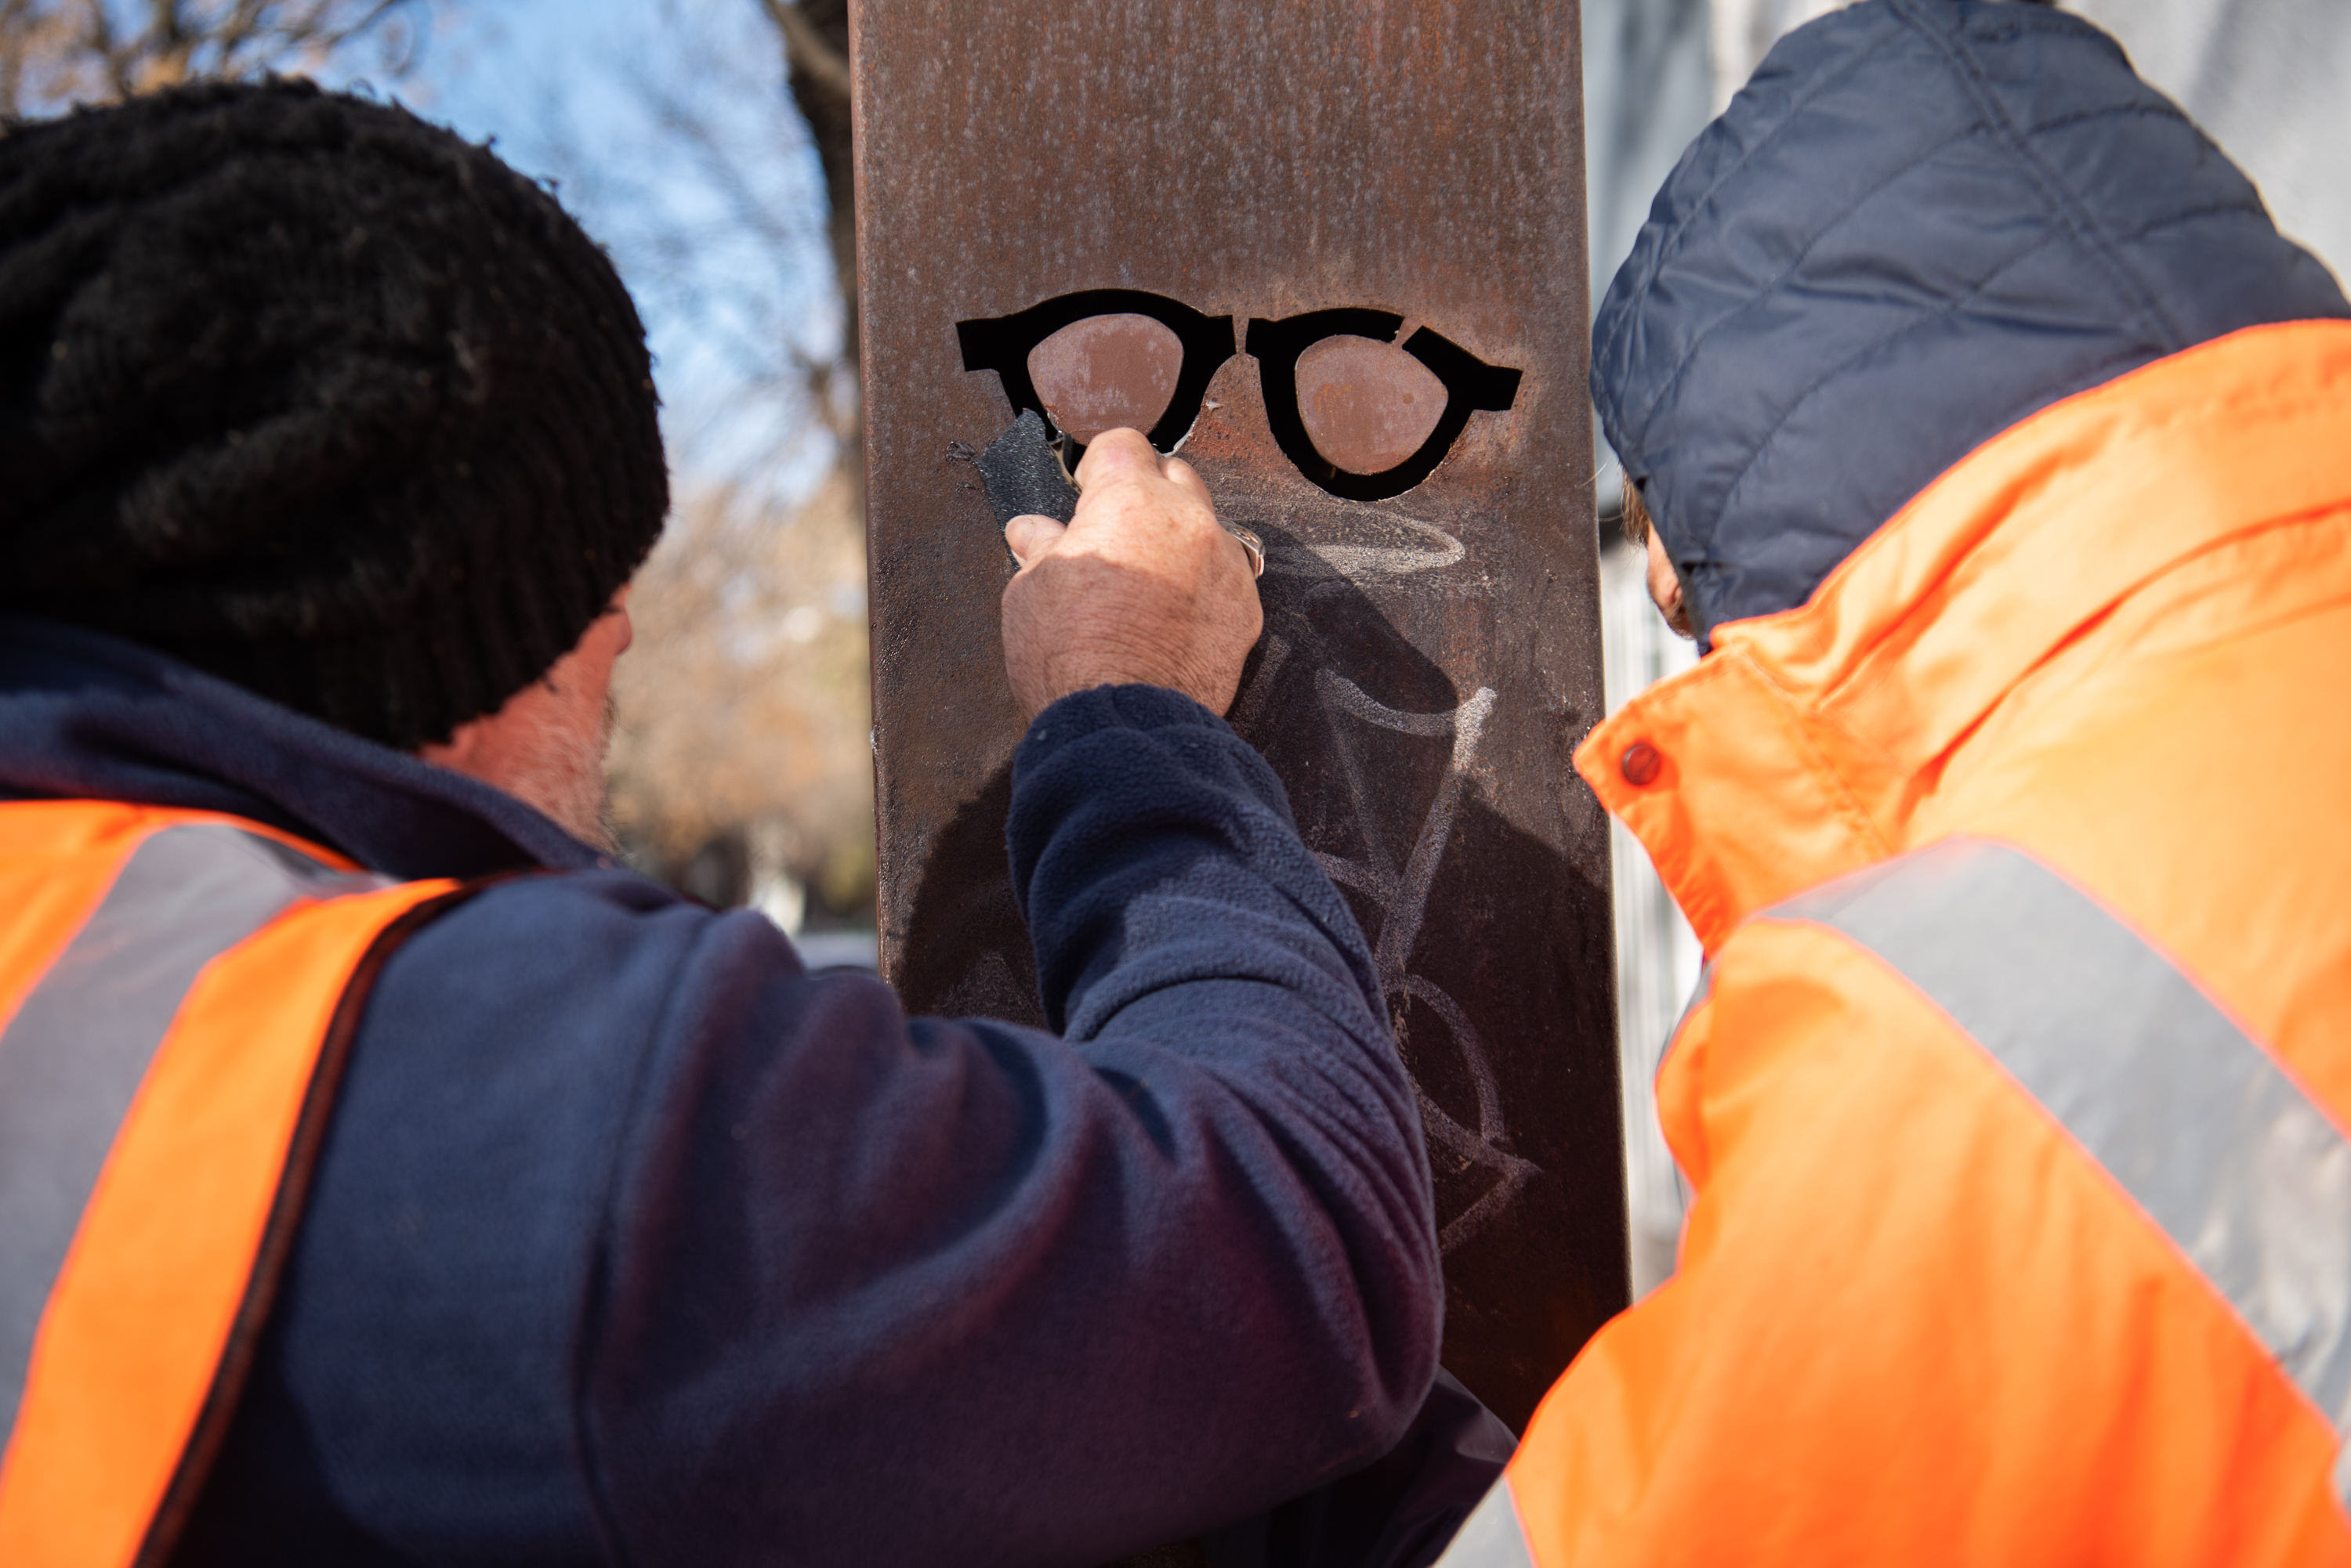
[[[1712,954],[1747,914],[1914,846],[1951,759],[2168,567],[2342,498],[2351,322],[2252,327],[2001,433],[1799,609],[1716,628],[1575,766]],[[1657,752],[1627,780],[1634,745]],[[1634,769],[1636,773],[1641,769]]]

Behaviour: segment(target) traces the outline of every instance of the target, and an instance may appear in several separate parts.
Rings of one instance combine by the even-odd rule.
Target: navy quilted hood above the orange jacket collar
[[[1867,0],[1782,38],[1683,153],[1592,397],[1704,637],[1803,604],[2034,409],[2325,315],[2335,277],[2104,33]]]

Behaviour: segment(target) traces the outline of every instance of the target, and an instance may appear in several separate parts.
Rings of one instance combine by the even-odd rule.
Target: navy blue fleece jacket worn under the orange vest
[[[0,792],[557,872],[383,969],[183,1563],[1093,1563],[1373,1460],[1429,1387],[1371,952],[1176,693],[1020,743],[1058,1039],[905,1018],[496,790],[103,637],[0,623]]]

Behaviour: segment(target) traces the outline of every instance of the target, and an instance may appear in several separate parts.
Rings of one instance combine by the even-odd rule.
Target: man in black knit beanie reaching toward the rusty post
[[[616,870],[628,294],[397,108],[0,134],[0,1561],[1100,1563],[1373,1460],[1380,983],[1136,440],[1006,595],[1060,1037]]]

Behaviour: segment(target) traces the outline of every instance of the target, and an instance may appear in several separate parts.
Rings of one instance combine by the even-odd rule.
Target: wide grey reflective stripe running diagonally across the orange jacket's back
[[[1933,997],[2229,1298],[2337,1441],[2351,1432],[2351,1143],[2170,959],[1987,839],[1763,919],[1831,926]]]

